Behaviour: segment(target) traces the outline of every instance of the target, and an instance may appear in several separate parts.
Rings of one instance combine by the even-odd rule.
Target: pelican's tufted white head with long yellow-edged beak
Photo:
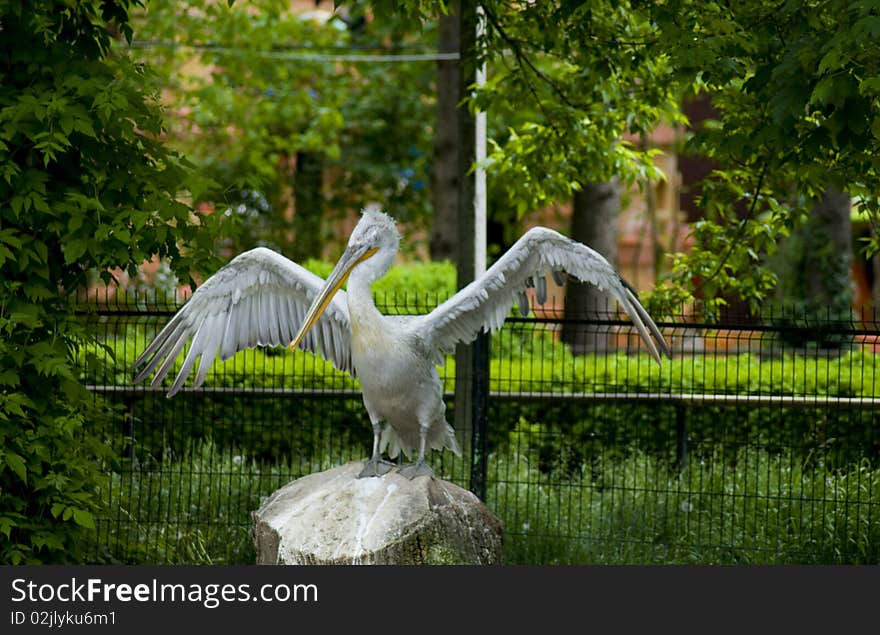
[[[309,329],[314,326],[318,318],[330,304],[333,295],[339,291],[349,274],[359,266],[368,267],[364,272],[369,282],[374,282],[385,275],[394,262],[397,250],[400,246],[400,233],[397,225],[387,214],[379,211],[377,207],[367,207],[361,214],[361,219],[355,225],[354,231],[348,239],[342,257],[333,267],[333,271],[327,276],[327,281],[321,292],[315,296],[312,306],[306,313],[296,337],[290,343],[293,350],[306,336]],[[368,264],[364,264],[367,263]]]

